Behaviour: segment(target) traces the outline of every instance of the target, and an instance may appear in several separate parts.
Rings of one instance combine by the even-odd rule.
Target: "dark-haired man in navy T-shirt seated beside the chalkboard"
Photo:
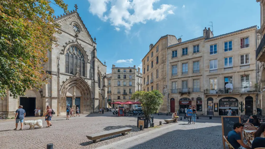
[[[233,126],[232,131],[230,131],[227,135],[227,141],[235,148],[242,148],[242,149],[251,149],[251,147],[247,146],[242,140],[241,140],[241,134],[244,130],[244,124],[241,124],[239,122],[235,123]]]

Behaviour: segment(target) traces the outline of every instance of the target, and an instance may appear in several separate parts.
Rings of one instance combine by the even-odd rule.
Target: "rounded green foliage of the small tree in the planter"
[[[163,104],[163,95],[158,90],[136,91],[131,99],[139,99],[145,117],[157,112]]]

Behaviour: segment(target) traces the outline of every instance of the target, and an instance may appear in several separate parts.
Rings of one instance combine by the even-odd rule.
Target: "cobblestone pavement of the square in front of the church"
[[[179,125],[182,123],[179,122],[179,123],[170,123],[170,124],[163,124],[162,126],[157,126],[159,124],[159,121],[162,121],[162,123],[164,123],[164,119],[168,119],[171,116],[152,115],[155,117],[154,123],[156,127],[139,131],[139,128],[136,127],[137,117],[117,117],[111,115],[112,115],[111,112],[104,112],[104,114],[98,114],[98,113],[92,113],[89,115],[83,114],[80,115],[80,117],[70,118],[70,120],[65,120],[66,116],[53,117],[52,118],[53,125],[50,128],[45,128],[46,122],[44,121],[43,117],[41,119],[43,120],[44,128],[31,129],[31,130],[29,130],[29,125],[25,125],[24,130],[13,130],[15,128],[15,120],[0,121],[0,137],[1,137],[0,148],[1,149],[2,148],[3,149],[46,148],[46,144],[48,143],[53,143],[54,148],[63,148],[63,149],[97,148],[117,141],[121,141],[126,138],[130,139],[133,136],[138,137],[138,135],[140,134],[152,130],[159,130],[158,128],[163,128],[165,126],[170,126],[170,125],[174,125],[174,130],[176,129],[175,130],[176,132],[169,132],[164,134],[166,135],[164,136],[166,139],[164,141],[160,139],[160,142],[162,144],[167,144],[167,142],[171,141],[172,138],[176,138],[176,140],[178,140],[177,142],[180,142],[182,146],[185,147],[186,145],[190,146],[189,143],[184,141],[184,139],[187,136],[185,134],[189,134],[191,136],[188,139],[190,140],[191,145],[204,144],[205,142],[213,143],[214,145],[222,144],[222,131],[220,126],[221,125],[220,118],[213,118],[213,120],[209,120],[209,118],[207,119],[207,117],[202,117],[201,119],[198,120],[198,122],[201,121],[202,123],[197,123],[196,125],[188,125],[188,126]],[[34,119],[36,118],[29,117],[26,118],[25,120],[34,120]],[[183,121],[187,123],[186,122],[187,119],[183,119]],[[214,123],[209,123],[209,122],[214,122]],[[91,140],[88,140],[86,138],[86,135],[89,134],[103,132],[117,128],[123,128],[123,127],[132,127],[133,129],[125,136],[114,135],[112,137],[103,138],[98,143],[92,143]],[[20,128],[20,126],[18,128]],[[162,133],[160,134],[162,135]],[[205,137],[201,137],[200,134],[202,134],[203,136],[205,135]],[[152,135],[152,137],[155,136],[156,135]],[[174,143],[177,144],[177,142]],[[174,143],[171,143],[172,146],[175,146]],[[148,147],[150,145],[144,144],[144,146]],[[141,146],[131,146],[129,148],[141,148]]]

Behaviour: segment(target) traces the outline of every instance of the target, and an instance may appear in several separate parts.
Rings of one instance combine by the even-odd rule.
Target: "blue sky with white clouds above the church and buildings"
[[[210,27],[214,36],[258,25],[260,5],[255,0],[64,0],[68,10],[77,4],[83,23],[96,37],[97,57],[107,73],[116,67],[141,68],[142,59],[161,36],[182,36],[182,41],[203,36]],[[63,14],[51,5],[55,15]],[[213,22],[213,28],[209,25]]]

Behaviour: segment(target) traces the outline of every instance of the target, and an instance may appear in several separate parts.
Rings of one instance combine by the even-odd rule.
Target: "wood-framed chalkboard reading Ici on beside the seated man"
[[[222,116],[222,132],[223,136],[227,136],[227,134],[233,130],[233,126],[237,122],[241,122],[240,116]],[[241,139],[243,136],[241,135]],[[225,147],[224,138],[223,138],[223,145]]]

